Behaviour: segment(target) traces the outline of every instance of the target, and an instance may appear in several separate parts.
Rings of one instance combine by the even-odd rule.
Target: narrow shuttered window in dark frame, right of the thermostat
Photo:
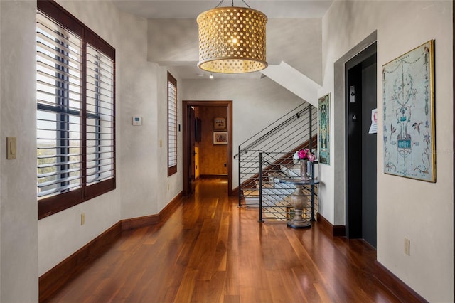
[[[168,73],[168,176],[177,172],[177,80]]]

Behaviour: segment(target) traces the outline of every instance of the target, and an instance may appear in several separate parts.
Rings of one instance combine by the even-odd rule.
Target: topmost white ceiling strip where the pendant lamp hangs
[[[195,18],[213,9],[220,0],[114,0],[122,11],[144,18]],[[262,11],[268,18],[321,18],[333,1],[330,0],[245,0],[252,9]],[[235,0],[234,6],[246,6]],[[220,6],[231,6],[225,0]]]

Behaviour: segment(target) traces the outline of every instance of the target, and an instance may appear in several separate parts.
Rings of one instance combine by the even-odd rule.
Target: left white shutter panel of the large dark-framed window
[[[82,185],[82,40],[37,14],[38,198]]]

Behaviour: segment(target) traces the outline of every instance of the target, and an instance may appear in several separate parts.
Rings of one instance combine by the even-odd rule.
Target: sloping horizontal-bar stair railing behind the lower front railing
[[[317,144],[317,110],[304,102],[277,121],[239,145],[234,159],[238,160],[239,206],[259,206],[259,153],[294,154],[302,148],[313,150]],[[269,166],[274,163],[270,162]]]

